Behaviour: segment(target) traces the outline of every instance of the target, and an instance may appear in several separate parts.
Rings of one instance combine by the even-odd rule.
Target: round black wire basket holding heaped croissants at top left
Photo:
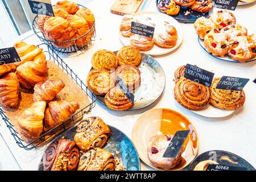
[[[84,7],[82,5],[78,5],[78,6],[80,8]],[[86,8],[86,7],[84,7],[84,8]],[[47,46],[49,48],[54,49],[57,53],[71,54],[71,53],[77,53],[78,51],[86,51],[87,49],[89,49],[90,46],[92,46],[92,43],[95,41],[95,38],[96,38],[95,20],[94,20],[92,28],[90,28],[90,30],[86,34],[80,36],[79,38],[72,39],[72,40],[54,41],[54,40],[47,39],[46,36],[43,34],[43,32],[40,31],[38,28],[38,15],[36,15],[33,20],[32,30],[35,32],[36,36],[38,36],[38,38],[43,43],[47,44]],[[83,43],[82,38],[85,38],[86,43]],[[81,46],[76,45],[76,40],[78,40],[78,39],[80,39]],[[59,44],[72,43],[73,45],[68,48],[59,48],[55,45],[56,43],[59,43]]]

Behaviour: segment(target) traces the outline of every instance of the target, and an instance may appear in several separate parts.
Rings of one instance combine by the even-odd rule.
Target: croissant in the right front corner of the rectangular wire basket
[[[52,101],[46,109],[44,117],[44,131],[48,131],[53,127],[64,122],[71,117],[75,111],[79,109],[77,102],[68,101]]]

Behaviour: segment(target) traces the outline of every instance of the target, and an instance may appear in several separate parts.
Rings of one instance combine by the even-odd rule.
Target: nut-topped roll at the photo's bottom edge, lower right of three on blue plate
[[[85,152],[79,162],[78,171],[114,171],[114,156],[102,148],[94,148]]]

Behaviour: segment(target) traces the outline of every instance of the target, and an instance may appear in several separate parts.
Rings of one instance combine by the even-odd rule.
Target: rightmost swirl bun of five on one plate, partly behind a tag
[[[115,84],[118,81],[117,77],[128,86],[129,90],[134,90],[141,85],[141,72],[132,65],[122,65],[115,70]]]

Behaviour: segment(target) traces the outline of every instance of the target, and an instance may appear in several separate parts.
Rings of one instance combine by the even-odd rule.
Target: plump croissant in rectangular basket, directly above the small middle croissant
[[[47,70],[47,61],[39,58],[19,65],[16,75],[23,88],[32,89],[35,84],[47,80]]]

